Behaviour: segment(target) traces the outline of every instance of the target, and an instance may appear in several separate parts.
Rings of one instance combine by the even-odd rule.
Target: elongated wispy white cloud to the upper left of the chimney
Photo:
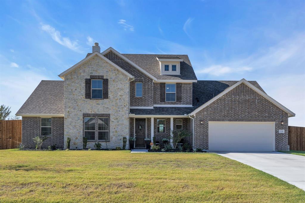
[[[54,27],[48,24],[41,24],[41,30],[47,32],[52,37],[52,39],[60,45],[63,45],[73,50],[74,52],[82,53],[82,51],[80,51],[77,41],[72,41],[69,37],[62,37],[60,35],[60,32]]]

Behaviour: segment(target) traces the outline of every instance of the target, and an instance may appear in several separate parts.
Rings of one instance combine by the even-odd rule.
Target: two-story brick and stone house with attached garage
[[[22,143],[34,148],[72,149],[95,142],[122,147],[123,137],[162,142],[171,130],[187,130],[193,148],[210,151],[289,150],[288,118],[293,112],[268,96],[256,81],[197,80],[188,55],[92,53],[42,80],[16,113],[22,116]],[[128,147],[128,146],[127,146]]]

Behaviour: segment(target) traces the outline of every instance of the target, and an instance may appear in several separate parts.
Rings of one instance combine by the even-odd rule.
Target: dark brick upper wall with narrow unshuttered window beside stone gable
[[[130,82],[130,106],[153,106],[152,79],[112,51],[106,53],[105,57],[135,77],[135,80]],[[135,96],[136,82],[143,83],[142,97]]]

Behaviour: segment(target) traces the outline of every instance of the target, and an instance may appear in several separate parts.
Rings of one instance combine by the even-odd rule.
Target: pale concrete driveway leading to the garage
[[[252,166],[305,190],[305,156],[274,151],[217,151],[215,153]]]

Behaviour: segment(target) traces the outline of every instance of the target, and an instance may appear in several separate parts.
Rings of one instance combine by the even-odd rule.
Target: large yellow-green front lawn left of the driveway
[[[212,153],[0,150],[0,202],[305,202],[305,192]]]

